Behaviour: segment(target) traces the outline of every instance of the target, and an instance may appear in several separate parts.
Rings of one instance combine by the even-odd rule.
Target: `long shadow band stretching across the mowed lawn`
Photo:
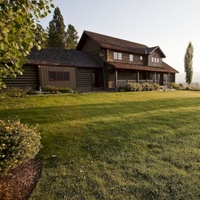
[[[200,98],[176,98],[161,99],[156,101],[123,101],[114,103],[98,103],[70,106],[30,107],[1,109],[0,118],[7,119],[10,116],[19,117],[22,121],[31,124],[54,123],[66,120],[87,120],[109,115],[140,114],[142,112],[159,110],[176,110],[180,108],[194,109],[200,105]]]

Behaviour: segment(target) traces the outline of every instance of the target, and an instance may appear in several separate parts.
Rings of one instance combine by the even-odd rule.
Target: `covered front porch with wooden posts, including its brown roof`
[[[123,87],[129,83],[157,83],[166,86],[175,82],[175,73],[177,73],[164,62],[161,67],[107,62],[106,72],[108,88]]]

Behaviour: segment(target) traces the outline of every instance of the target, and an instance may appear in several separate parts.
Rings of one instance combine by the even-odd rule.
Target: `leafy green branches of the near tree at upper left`
[[[50,13],[52,0],[0,1],[0,87],[2,79],[22,74],[22,66],[31,49],[41,48],[45,40],[39,19]],[[37,35],[37,36],[36,36]]]

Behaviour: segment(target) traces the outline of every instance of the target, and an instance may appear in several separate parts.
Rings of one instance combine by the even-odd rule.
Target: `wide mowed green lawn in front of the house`
[[[200,199],[200,92],[1,99],[16,116],[42,136],[31,200]]]

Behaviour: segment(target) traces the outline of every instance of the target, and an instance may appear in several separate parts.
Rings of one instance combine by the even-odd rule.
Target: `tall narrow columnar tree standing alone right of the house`
[[[184,66],[186,72],[185,80],[186,83],[188,83],[188,85],[192,82],[192,76],[193,76],[193,66],[192,66],[193,52],[194,52],[193,45],[191,42],[189,42],[184,59]]]

